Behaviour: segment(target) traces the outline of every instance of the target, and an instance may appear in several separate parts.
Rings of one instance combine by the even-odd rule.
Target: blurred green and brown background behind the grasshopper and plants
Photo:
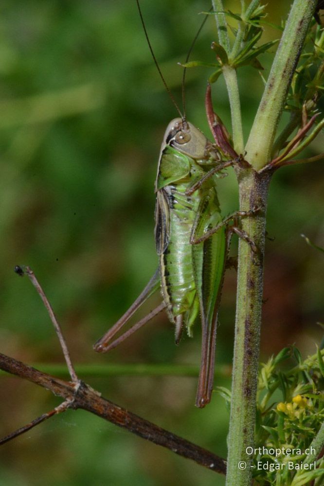
[[[147,29],[162,72],[180,100],[181,69],[208,1],[143,0]],[[271,1],[280,24],[290,1]],[[238,11],[240,2],[225,1]],[[62,363],[28,264],[51,300],[74,362],[198,364],[199,329],[179,347],[160,314],[108,355],[92,344],[125,312],[157,266],[154,179],[163,133],[177,116],[158,78],[135,1],[3,1],[0,28],[0,308],[1,352],[26,363]],[[267,28],[265,41],[280,32]],[[213,62],[215,23],[207,22],[192,59]],[[260,59],[267,76],[271,55]],[[204,91],[210,71],[187,77],[187,113],[208,134]],[[249,133],[263,84],[239,71]],[[214,104],[230,128],[224,83]],[[323,151],[323,135],[308,155]],[[303,355],[321,339],[323,245],[320,163],[282,169],[270,186],[262,360],[296,343]],[[321,180],[322,178],[322,180]],[[226,215],[237,208],[233,174],[219,182]],[[234,242],[232,251],[235,253]],[[322,260],[321,260],[322,259]],[[235,272],[224,285],[216,368],[231,364]],[[159,302],[157,295],[144,312]],[[81,376],[82,378],[82,376]],[[226,456],[228,412],[215,394],[194,407],[196,378],[87,377],[104,396],[176,434]],[[216,384],[230,386],[228,377]],[[1,375],[1,435],[59,403],[49,392]],[[67,412],[1,448],[0,485],[222,485],[215,473],[85,412]]]

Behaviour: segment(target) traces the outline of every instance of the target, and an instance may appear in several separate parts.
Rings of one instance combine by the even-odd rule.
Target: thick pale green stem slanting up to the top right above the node
[[[291,77],[296,68],[317,0],[295,0],[245,147],[247,160],[259,170],[270,153]]]

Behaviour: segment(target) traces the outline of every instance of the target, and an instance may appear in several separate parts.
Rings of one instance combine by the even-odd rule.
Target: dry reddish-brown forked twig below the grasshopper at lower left
[[[129,432],[139,435],[140,437],[143,437],[154,444],[165,447],[182,457],[192,459],[199,465],[204,466],[212,471],[221,474],[226,473],[226,461],[223,458],[197,446],[196,444],[193,444],[192,442],[189,442],[186,439],[183,439],[182,437],[179,437],[178,435],[162,429],[158,425],[155,425],[144,418],[128,412],[126,409],[101,397],[101,394],[98,391],[79,380],[72,365],[68,347],[62,335],[60,326],[56,320],[53,309],[43,289],[39,285],[34,272],[29,267],[25,267],[25,269],[22,270],[19,266],[15,267],[15,271],[18,273],[18,275],[23,275],[24,273],[28,275],[38,294],[43,300],[58,335],[72,382],[66,382],[59,378],[55,378],[47,373],[43,373],[42,371],[33,368],[32,366],[28,366],[27,364],[0,353],[0,369],[30,382],[36,383],[37,385],[51,391],[54,393],[54,395],[64,399],[60,405],[55,407],[50,412],[37,417],[35,420],[19,428],[12,434],[3,437],[3,439],[0,440],[0,445],[12,440],[24,432],[27,432],[48,418],[66,411],[68,408],[72,408],[74,410],[83,409],[97,415],[98,417],[108,420],[119,427],[125,428]]]

